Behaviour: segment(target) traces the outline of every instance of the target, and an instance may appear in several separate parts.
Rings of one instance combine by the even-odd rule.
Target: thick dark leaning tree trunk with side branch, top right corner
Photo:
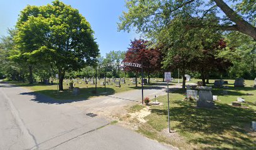
[[[256,40],[256,27],[245,21],[237,12],[233,11],[223,0],[213,0],[216,5],[229,17],[229,19],[235,22],[233,26],[223,26],[224,30],[240,31]]]

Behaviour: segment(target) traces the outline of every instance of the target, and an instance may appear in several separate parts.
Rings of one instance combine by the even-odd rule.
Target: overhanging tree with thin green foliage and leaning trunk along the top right
[[[213,1],[130,0],[126,2],[128,12],[123,12],[120,16],[119,30],[130,31],[131,27],[136,27],[137,32],[147,33],[147,36],[151,37],[169,26],[177,16],[189,14],[203,21],[207,14],[215,14],[219,23],[211,27],[217,27],[223,31],[239,31],[256,39],[256,8],[253,7],[255,2],[234,0],[230,2],[230,5],[235,5],[232,9],[223,0]],[[219,9],[226,16],[218,17]],[[205,24],[200,26],[205,26]]]

